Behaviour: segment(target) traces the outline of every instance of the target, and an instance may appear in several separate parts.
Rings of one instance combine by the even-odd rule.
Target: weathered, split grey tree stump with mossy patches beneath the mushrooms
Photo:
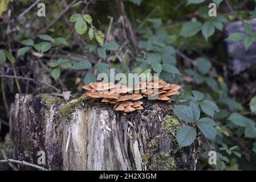
[[[145,101],[144,110],[123,116],[91,100],[66,104],[54,95],[15,97],[5,150],[10,158],[37,164],[46,153],[50,170],[196,169],[197,148],[178,147],[181,126],[173,104]],[[21,169],[31,169],[20,167]]]

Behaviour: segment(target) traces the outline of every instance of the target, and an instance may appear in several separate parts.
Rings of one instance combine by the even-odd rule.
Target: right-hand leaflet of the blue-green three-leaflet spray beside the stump
[[[197,121],[197,127],[200,129],[205,137],[215,139],[216,129],[214,129],[215,122],[210,118],[201,118]]]

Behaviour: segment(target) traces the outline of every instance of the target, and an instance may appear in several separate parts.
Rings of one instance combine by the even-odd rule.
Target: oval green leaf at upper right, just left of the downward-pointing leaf
[[[202,24],[200,22],[188,22],[182,26],[180,35],[184,37],[191,37],[196,35],[201,28]]]

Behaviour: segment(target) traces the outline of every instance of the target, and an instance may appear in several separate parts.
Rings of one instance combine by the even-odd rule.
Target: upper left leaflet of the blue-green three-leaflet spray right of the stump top
[[[200,118],[200,110],[195,106],[191,107],[179,105],[174,107],[173,112],[179,119],[185,122],[196,122]]]

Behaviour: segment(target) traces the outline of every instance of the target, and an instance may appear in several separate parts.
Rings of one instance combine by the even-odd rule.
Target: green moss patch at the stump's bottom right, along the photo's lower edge
[[[170,157],[169,154],[161,152],[153,158],[153,163],[149,166],[150,169],[157,169],[160,171],[171,171],[176,168],[174,158]]]

